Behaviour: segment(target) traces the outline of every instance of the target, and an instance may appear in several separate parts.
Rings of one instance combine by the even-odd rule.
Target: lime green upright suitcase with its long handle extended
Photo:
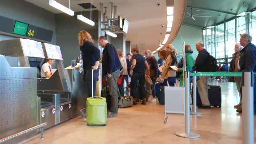
[[[101,71],[99,71],[101,73]],[[101,77],[101,75],[99,75]],[[92,70],[93,79],[93,70]],[[92,80],[93,85],[93,80]],[[101,83],[99,83],[99,88]],[[93,97],[93,86],[92,86],[92,97],[87,98],[86,101],[86,118],[87,125],[107,125],[107,102],[106,99],[99,96]]]

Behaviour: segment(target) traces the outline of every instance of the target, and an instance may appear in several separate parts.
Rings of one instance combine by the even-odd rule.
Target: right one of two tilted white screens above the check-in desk
[[[45,51],[47,53],[48,59],[59,59],[63,60],[61,55],[61,49],[58,45],[51,45],[45,43]]]

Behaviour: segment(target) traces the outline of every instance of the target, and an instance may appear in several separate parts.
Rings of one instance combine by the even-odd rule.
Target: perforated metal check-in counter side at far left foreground
[[[37,69],[11,67],[0,55],[0,139],[37,125]],[[6,142],[16,144],[35,136],[29,132]]]

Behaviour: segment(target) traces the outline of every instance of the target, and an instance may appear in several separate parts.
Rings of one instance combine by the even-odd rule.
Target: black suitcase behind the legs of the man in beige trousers
[[[192,89],[192,104],[193,104],[193,89]],[[218,85],[208,85],[208,96],[212,107],[221,107],[221,87]],[[197,90],[197,106],[202,105],[200,95]]]

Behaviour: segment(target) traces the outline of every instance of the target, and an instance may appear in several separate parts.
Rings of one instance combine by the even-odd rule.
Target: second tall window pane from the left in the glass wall
[[[225,57],[224,24],[216,27],[216,58]]]

